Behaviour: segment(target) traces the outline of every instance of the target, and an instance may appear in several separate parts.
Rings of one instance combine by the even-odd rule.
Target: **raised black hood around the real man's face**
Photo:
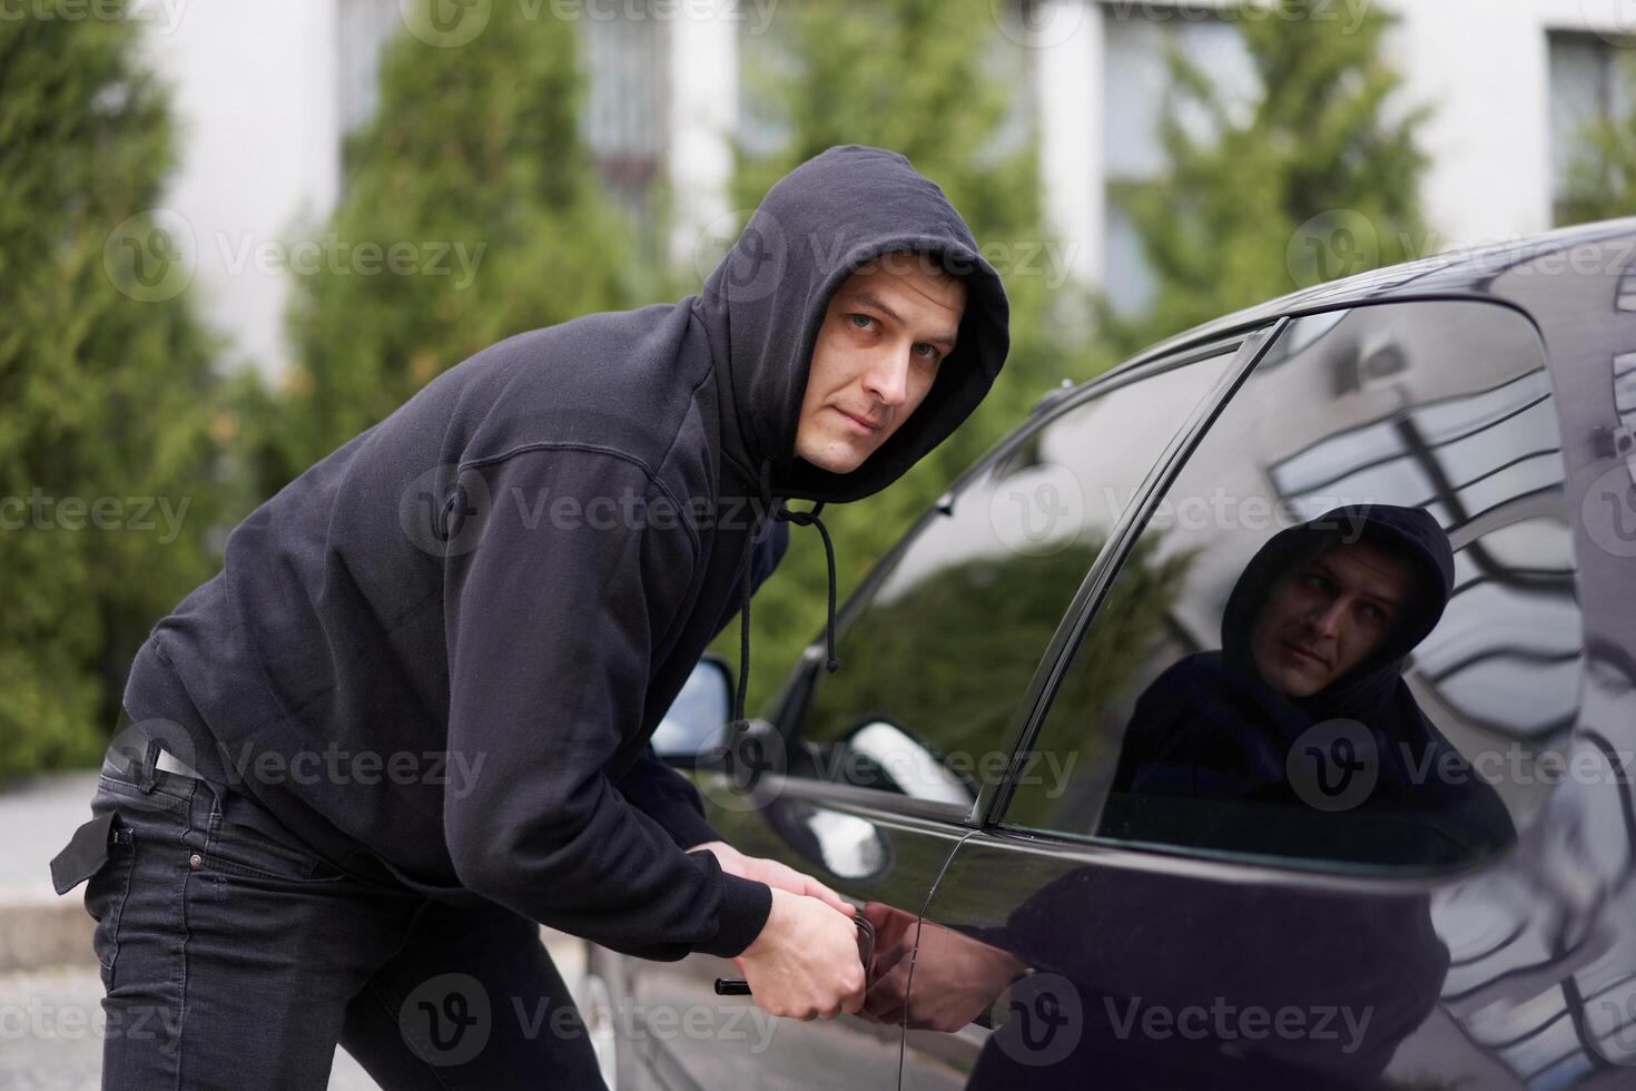
[[[883,254],[934,257],[967,288],[954,352],[908,420],[852,473],[795,455],[795,429],[818,329],[834,294]],[[965,420],[1009,348],[1000,275],[978,255],[960,214],[910,160],[879,147],[831,147],[767,190],[695,303],[721,391],[723,458],[753,489],[847,502],[897,481]]]

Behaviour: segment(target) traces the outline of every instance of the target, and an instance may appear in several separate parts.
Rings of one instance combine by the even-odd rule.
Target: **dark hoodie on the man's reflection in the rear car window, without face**
[[[1356,540],[1407,556],[1414,590],[1368,659],[1317,694],[1281,694],[1261,679],[1250,651],[1268,592],[1284,572]],[[1402,679],[1453,587],[1448,537],[1420,509],[1338,507],[1273,535],[1227,599],[1222,649],[1176,662],[1137,702],[1101,833],[1400,865],[1472,862],[1508,846],[1515,829],[1503,803]],[[1373,785],[1360,798],[1335,795],[1332,811],[1315,792],[1320,777],[1343,783],[1340,761],[1325,765],[1337,754],[1366,770]]]

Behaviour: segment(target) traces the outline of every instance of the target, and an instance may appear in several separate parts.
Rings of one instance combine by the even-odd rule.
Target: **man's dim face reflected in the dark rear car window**
[[[1409,561],[1368,541],[1284,572],[1250,638],[1261,679],[1289,697],[1317,694],[1386,641],[1412,586]]]

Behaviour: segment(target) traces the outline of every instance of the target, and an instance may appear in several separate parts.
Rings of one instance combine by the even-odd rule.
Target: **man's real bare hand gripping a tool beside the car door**
[[[857,924],[818,898],[772,888],[766,926],[733,962],[774,1016],[834,1019],[864,1006]]]

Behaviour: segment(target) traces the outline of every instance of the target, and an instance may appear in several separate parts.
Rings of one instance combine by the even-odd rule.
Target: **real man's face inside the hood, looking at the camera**
[[[818,329],[795,453],[857,469],[926,397],[964,312],[965,283],[928,258],[888,254],[852,273]]]

